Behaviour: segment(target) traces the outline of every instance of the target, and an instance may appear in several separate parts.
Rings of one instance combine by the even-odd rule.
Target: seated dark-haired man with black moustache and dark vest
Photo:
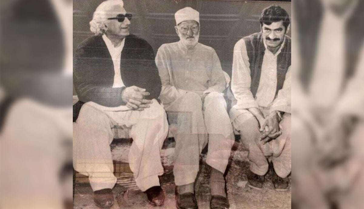
[[[234,128],[249,149],[248,186],[261,189],[268,172],[273,186],[289,189],[291,171],[291,39],[288,13],[273,5],[260,16],[261,32],[240,39],[234,47],[230,111]]]

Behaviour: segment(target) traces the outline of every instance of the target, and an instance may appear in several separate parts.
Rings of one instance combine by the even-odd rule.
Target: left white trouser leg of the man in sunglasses
[[[82,106],[74,135],[73,164],[76,171],[89,177],[94,191],[111,189],[116,183],[110,150],[113,126],[103,111],[87,103]]]

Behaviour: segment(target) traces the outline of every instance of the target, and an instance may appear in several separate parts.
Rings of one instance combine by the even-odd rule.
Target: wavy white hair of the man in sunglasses
[[[122,0],[107,0],[103,1],[95,10],[92,20],[90,21],[90,30],[95,35],[102,35],[107,31],[105,21],[107,20],[107,14],[112,7],[124,6]]]

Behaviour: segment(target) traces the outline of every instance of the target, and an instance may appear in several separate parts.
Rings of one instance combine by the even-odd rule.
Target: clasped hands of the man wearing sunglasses
[[[123,90],[121,94],[122,100],[126,103],[128,108],[142,111],[145,108],[149,108],[151,100],[145,99],[150,93],[146,92],[146,89],[139,88],[138,86],[130,86]]]

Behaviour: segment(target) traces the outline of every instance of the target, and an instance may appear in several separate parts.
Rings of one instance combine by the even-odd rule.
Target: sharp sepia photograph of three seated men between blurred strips
[[[290,208],[291,4],[75,0],[74,208]]]

